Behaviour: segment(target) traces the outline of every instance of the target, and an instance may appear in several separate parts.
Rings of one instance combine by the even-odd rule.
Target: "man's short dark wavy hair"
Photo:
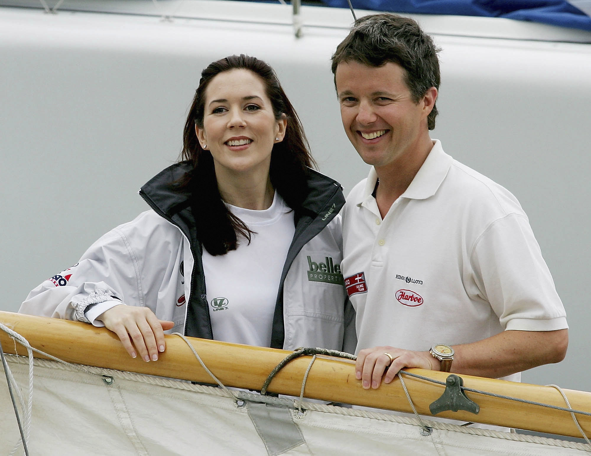
[[[439,90],[439,51],[433,39],[411,18],[391,13],[359,18],[332,56],[335,87],[336,69],[341,62],[357,61],[369,67],[392,62],[405,70],[405,82],[413,101],[418,103],[431,87]],[[430,130],[435,128],[436,117],[434,104],[427,117]]]

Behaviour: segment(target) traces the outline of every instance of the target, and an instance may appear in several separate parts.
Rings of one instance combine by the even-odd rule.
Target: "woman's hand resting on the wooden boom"
[[[100,314],[97,320],[102,321],[109,330],[119,336],[132,358],[137,356],[137,350],[144,361],[158,360],[158,351],[164,351],[166,348],[164,331],[174,327],[172,321],[158,320],[154,312],[147,307],[125,304],[110,308]]]

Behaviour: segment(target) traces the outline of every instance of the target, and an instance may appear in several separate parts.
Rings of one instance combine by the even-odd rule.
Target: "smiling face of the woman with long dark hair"
[[[285,135],[284,117],[275,119],[265,85],[252,71],[217,74],[205,91],[203,128],[196,126],[199,142],[212,153],[217,179],[250,174],[267,180],[273,144]]]

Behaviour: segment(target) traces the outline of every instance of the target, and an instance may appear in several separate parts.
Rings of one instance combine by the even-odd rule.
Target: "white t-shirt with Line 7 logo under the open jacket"
[[[227,204],[255,233],[236,250],[210,255],[203,249],[207,302],[213,338],[268,347],[281,272],[293,239],[294,213],[277,192],[269,209]]]

